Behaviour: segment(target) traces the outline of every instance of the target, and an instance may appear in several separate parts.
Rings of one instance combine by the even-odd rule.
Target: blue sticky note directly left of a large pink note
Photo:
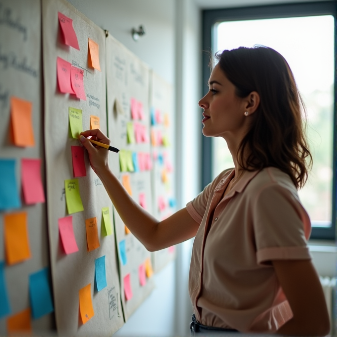
[[[21,207],[15,177],[15,159],[0,159],[0,211]]]

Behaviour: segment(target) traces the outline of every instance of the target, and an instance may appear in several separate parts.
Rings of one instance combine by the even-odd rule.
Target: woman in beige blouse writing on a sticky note
[[[301,99],[285,59],[266,47],[216,55],[200,100],[203,134],[223,137],[235,169],[223,171],[186,208],[158,222],[134,202],[108,165],[108,151],[80,140],[121,219],[150,251],[195,236],[189,277],[192,335],[325,336],[323,290],[307,247],[309,217],[297,189],[311,164]],[[307,161],[309,159],[309,161]]]

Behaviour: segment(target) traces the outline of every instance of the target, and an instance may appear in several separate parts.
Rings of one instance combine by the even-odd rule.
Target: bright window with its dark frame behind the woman
[[[294,73],[308,114],[307,135],[314,163],[306,185],[299,191],[312,221],[311,238],[335,238],[335,222],[332,221],[335,219],[334,15],[331,2],[204,12],[204,43],[206,35],[211,36],[210,45],[204,45],[204,49],[212,47],[214,53],[240,46],[265,45],[280,52]],[[208,76],[209,70],[204,74],[206,83]],[[203,182],[206,182],[233,164],[224,139],[203,137],[203,142],[204,148],[208,147],[213,153],[208,158],[211,165],[208,168],[204,165]]]

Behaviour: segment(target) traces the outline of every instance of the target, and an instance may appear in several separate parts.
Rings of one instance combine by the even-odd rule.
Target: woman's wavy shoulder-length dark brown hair
[[[238,163],[250,171],[279,168],[297,188],[302,187],[312,157],[304,133],[304,105],[288,63],[274,49],[263,46],[225,50],[216,58],[238,97],[252,91],[260,95],[251,128],[239,147]]]

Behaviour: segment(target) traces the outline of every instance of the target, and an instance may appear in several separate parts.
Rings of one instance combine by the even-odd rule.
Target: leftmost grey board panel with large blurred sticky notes
[[[25,328],[29,331],[31,326],[31,332],[34,334],[55,329],[54,313],[50,313],[53,311],[52,306],[48,308],[48,314],[42,312],[42,316],[37,319],[32,311],[29,278],[49,264],[46,204],[41,202],[41,198],[40,202],[36,203],[36,200],[29,200],[27,195],[23,194],[23,181],[27,182],[27,177],[22,179],[22,175],[27,173],[26,169],[23,169],[22,160],[41,160],[41,168],[37,168],[35,172],[40,181],[40,197],[44,197],[40,7],[40,0],[0,2],[0,336],[9,335],[7,324],[9,321],[13,322],[13,319],[12,328],[17,328],[22,317],[17,316],[20,313],[28,313]],[[22,102],[18,100],[26,101],[24,107],[28,107],[28,114],[25,108],[15,106],[13,99],[16,103]],[[16,116],[23,113],[28,122],[23,123],[22,116],[19,116],[12,125],[13,113]],[[34,143],[27,146],[27,139],[20,142],[17,136],[24,134],[30,127],[33,130]],[[15,146],[13,142],[19,142],[22,146]],[[15,166],[4,174],[3,161],[6,159],[13,160]],[[34,190],[35,187],[36,185],[33,186],[33,194],[37,191]],[[32,192],[32,186],[28,192]],[[13,199],[18,202],[16,206],[13,205]],[[3,207],[4,203],[8,203],[6,207]],[[11,245],[8,241],[5,242],[5,226],[8,224],[12,227],[14,224],[11,221],[7,223],[5,219],[20,213],[27,215],[27,222],[22,228],[27,228],[25,242],[28,241],[28,250],[21,255],[20,261],[16,260],[17,262],[10,264],[6,251]],[[18,236],[15,237],[15,241],[22,248],[22,236],[21,240]]]

